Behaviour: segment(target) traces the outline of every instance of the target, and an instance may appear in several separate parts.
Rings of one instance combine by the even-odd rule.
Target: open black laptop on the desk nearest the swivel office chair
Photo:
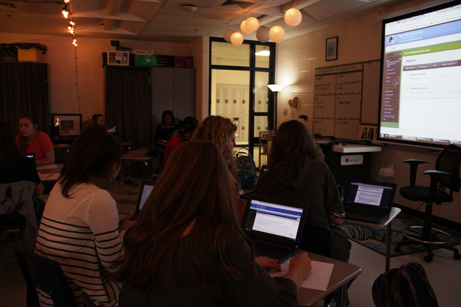
[[[380,224],[389,217],[396,189],[395,183],[350,179],[343,199],[346,218]]]

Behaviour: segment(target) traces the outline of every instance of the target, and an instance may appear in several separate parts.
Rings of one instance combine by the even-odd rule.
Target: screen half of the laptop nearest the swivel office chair
[[[373,183],[351,181],[344,204],[365,204],[388,208],[392,204],[394,188]]]

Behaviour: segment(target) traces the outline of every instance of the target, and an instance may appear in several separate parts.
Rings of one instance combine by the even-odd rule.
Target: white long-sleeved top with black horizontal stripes
[[[38,231],[35,253],[59,263],[74,296],[88,293],[96,305],[118,306],[121,283],[113,278],[123,257],[118,213],[108,191],[94,184],[79,184],[66,199],[57,183],[50,193]],[[38,291],[40,305],[51,298]]]

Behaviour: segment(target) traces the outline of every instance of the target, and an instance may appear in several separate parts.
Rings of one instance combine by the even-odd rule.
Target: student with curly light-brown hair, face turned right
[[[203,140],[215,143],[221,150],[229,170],[229,179],[231,181],[232,198],[239,222],[242,222],[243,213],[245,213],[245,203],[240,199],[239,186],[235,180],[237,174],[237,164],[235,163],[232,150],[235,144],[235,131],[237,126],[230,119],[221,116],[208,116],[205,118],[192,137],[193,140]]]

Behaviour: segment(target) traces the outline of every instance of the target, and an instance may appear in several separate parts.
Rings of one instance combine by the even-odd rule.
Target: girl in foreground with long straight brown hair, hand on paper
[[[310,274],[302,253],[284,277],[255,263],[232,202],[228,167],[205,141],[173,152],[125,234],[119,306],[296,306]]]

